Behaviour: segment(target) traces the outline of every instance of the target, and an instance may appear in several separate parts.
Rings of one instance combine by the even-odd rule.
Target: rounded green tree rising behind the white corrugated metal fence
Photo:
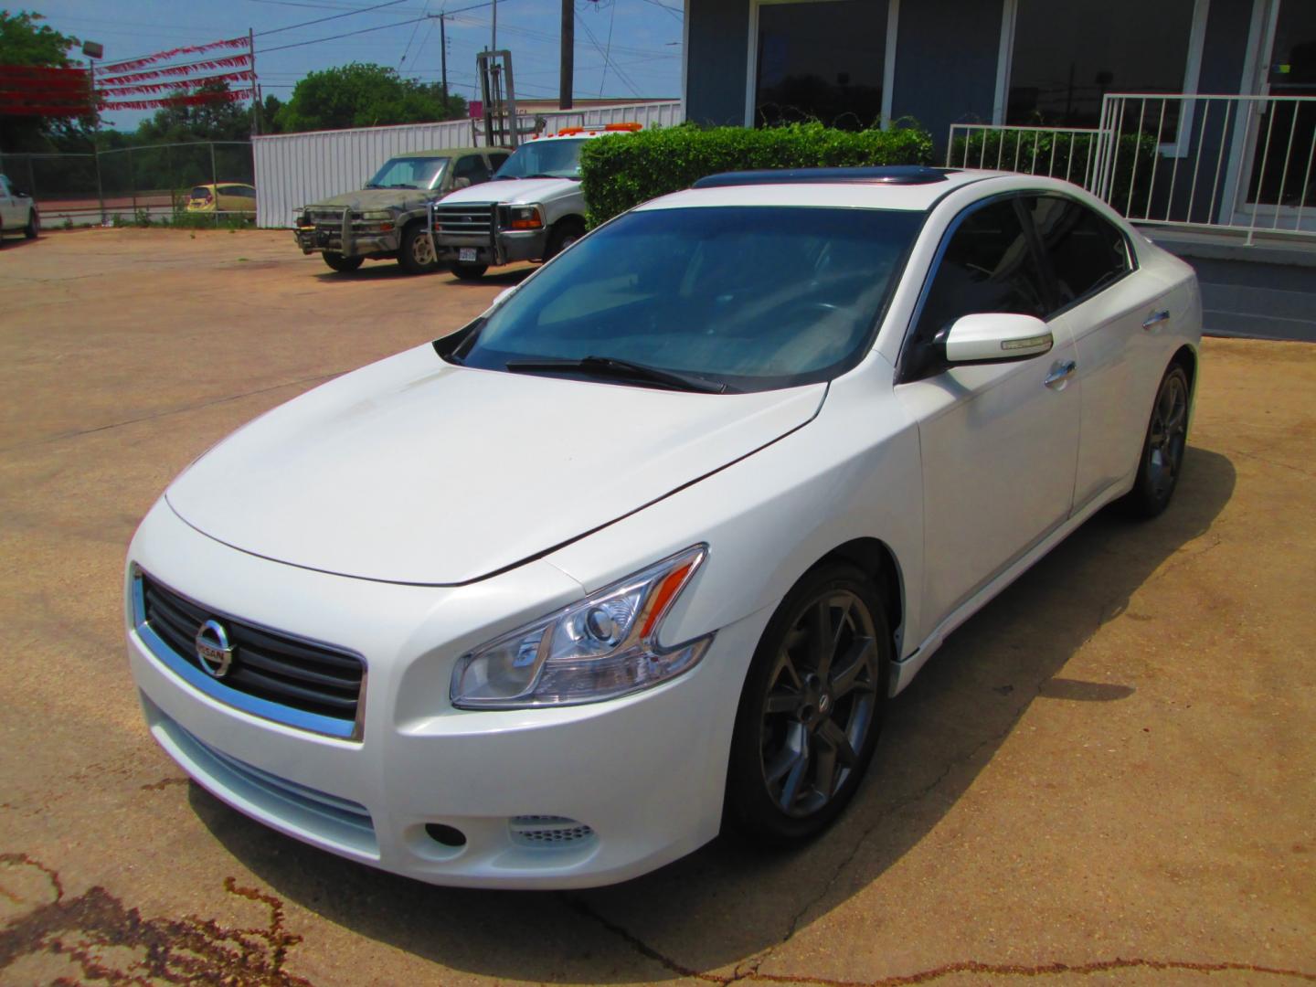
[[[403,79],[392,68],[353,62],[309,72],[275,118],[280,132],[421,124],[465,116],[466,100],[442,87]]]

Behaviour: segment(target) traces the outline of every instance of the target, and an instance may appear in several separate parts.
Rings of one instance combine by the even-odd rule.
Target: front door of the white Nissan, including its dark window
[[[907,349],[975,312],[1045,318],[1051,303],[1023,218],[1021,200],[1008,197],[958,220]],[[1048,354],[933,366],[898,388],[923,451],[924,633],[1070,516],[1082,367],[1063,376],[1074,341],[1063,321],[1048,328]]]

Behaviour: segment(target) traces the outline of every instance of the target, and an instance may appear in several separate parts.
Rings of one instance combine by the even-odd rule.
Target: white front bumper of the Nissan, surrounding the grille
[[[736,700],[766,615],[724,628],[699,666],[646,692],[470,712],[447,700],[457,655],[580,595],[549,563],[468,587],[370,583],[237,551],[163,501],[130,559],[128,653],[153,736],[197,783],[274,829],[421,880],[508,888],[624,880],[719,830]],[[362,654],[359,740],[255,716],[184,680],[139,626],[134,565],[228,613]],[[566,836],[528,837],[546,817]],[[447,832],[436,826],[465,845],[432,837]]]

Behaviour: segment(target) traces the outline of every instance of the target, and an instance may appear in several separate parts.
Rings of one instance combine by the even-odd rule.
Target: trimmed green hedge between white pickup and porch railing
[[[747,129],[694,125],[587,141],[580,178],[590,226],[720,171],[854,164],[930,164],[932,137],[915,128],[836,130],[821,124]]]

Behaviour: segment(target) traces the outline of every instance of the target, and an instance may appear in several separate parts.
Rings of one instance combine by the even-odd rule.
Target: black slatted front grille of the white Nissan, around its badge
[[[233,646],[233,661],[217,683],[282,707],[355,722],[365,678],[359,657],[234,620],[179,596],[145,572],[141,579],[142,616],[182,661],[209,675],[196,654],[196,636],[205,621],[216,620]]]

